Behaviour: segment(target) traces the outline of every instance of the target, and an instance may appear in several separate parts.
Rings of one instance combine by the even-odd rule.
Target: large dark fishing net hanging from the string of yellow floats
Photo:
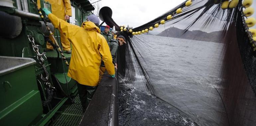
[[[138,35],[119,32],[128,44],[119,48],[118,72],[128,81],[139,74],[142,89],[199,125],[255,125],[256,43],[245,24],[242,0],[227,9],[221,8],[223,2],[192,0],[187,7],[185,1],[132,29]],[[150,27],[154,30],[145,32]]]

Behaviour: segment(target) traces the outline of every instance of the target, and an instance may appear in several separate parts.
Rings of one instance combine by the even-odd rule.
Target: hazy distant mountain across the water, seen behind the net
[[[195,31],[188,30],[186,33],[184,33],[184,32],[185,32],[185,30],[171,27],[171,28],[167,29],[166,31],[163,31],[157,35],[221,43],[221,34],[223,31],[207,33],[207,32],[203,32],[203,31],[199,31],[199,30],[195,30]]]

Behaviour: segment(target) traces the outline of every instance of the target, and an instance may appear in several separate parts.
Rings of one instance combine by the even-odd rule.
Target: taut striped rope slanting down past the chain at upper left
[[[59,46],[57,40],[55,39],[55,37],[54,37],[54,35],[53,35],[53,32],[51,31],[51,29],[49,28],[49,26],[47,25],[47,23],[46,23],[46,21],[45,21],[45,19],[44,19],[44,16],[43,16],[43,14],[42,14],[42,12],[41,12],[41,10],[40,10],[41,8],[39,8],[39,7],[37,6],[37,3],[36,3],[34,0],[32,0],[32,1],[33,1],[33,3],[35,4],[35,6],[36,6],[36,8],[37,8],[37,11],[38,11],[38,13],[39,13],[41,19],[43,20],[43,22],[44,22],[44,24],[45,24],[47,30],[50,32],[50,35],[51,35],[51,37],[52,37],[53,40],[54,40],[54,44],[57,46],[58,50],[60,51],[62,59],[64,59],[64,62],[65,62],[65,64],[66,64],[66,66],[69,68],[69,64],[68,64],[68,62],[67,62],[67,60],[66,60],[66,57],[65,57],[64,54],[63,54],[62,49],[60,48],[60,46]]]

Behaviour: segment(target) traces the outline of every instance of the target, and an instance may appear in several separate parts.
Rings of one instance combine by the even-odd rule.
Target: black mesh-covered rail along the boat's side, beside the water
[[[79,124],[79,126],[105,125],[118,125],[117,81],[107,76],[103,76]]]

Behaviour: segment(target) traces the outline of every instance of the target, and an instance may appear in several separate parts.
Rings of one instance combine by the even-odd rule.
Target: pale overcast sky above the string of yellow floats
[[[98,0],[90,0],[91,3],[95,1]],[[118,25],[129,25],[136,28],[157,18],[184,1],[186,0],[157,0],[157,2],[153,0],[102,0],[97,2],[97,6],[99,8],[110,7],[113,11],[112,18]],[[255,1],[252,7],[256,8]],[[256,18],[256,10],[251,17]],[[256,26],[253,28],[256,28]]]

